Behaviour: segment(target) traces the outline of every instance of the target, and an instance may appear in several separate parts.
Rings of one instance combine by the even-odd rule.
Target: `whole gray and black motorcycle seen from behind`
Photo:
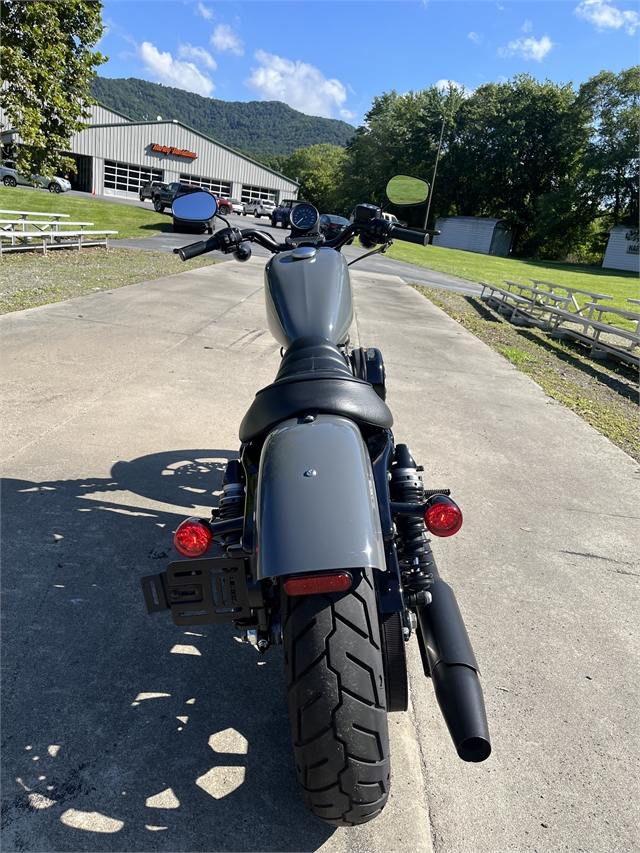
[[[387,185],[395,204],[420,204],[428,191],[406,175]],[[173,203],[174,216],[194,224],[215,213],[208,193]],[[302,796],[332,826],[372,820],[387,802],[387,714],[407,709],[413,634],[459,757],[491,752],[478,664],[429,538],[457,533],[462,512],[448,489],[425,488],[424,469],[395,444],[380,351],[349,346],[342,247],[357,235],[367,257],[394,239],[426,245],[434,233],[360,204],[326,239],[318,211],[299,202],[283,244],[226,227],[175,250],[183,260],[219,250],[247,261],[251,243],[272,252],[266,310],[283,356],[240,425],[219,506],[175,531],[184,559],[142,578],[147,610],[170,610],[179,626],[233,622],[262,654],[283,647]],[[224,557],[206,556],[213,541]]]

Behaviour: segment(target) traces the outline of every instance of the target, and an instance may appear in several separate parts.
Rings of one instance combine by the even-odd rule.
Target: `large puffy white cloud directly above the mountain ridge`
[[[334,109],[342,111],[347,90],[339,80],[327,79],[307,62],[292,62],[259,50],[255,58],[260,67],[245,80],[245,86],[265,100],[284,101],[307,115],[331,118]],[[344,111],[342,111],[343,117]]]

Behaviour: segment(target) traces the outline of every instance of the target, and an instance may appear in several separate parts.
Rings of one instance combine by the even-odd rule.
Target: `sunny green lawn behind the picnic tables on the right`
[[[480,255],[477,252],[463,252],[459,249],[444,249],[441,246],[412,246],[397,241],[387,251],[387,257],[428,267],[438,272],[466,278],[469,281],[487,281],[489,284],[502,285],[505,278],[521,284],[530,284],[529,279],[539,278],[553,284],[566,284],[592,293],[613,296],[609,304],[627,311],[637,311],[637,305],[626,300],[640,298],[638,274],[622,270],[603,270],[600,267],[581,266],[579,264],[559,264],[553,261],[532,261],[520,258],[497,258],[494,255]],[[589,302],[588,296],[577,294],[580,305]],[[615,315],[603,319],[614,322]],[[615,321],[622,327],[631,326],[620,318]]]

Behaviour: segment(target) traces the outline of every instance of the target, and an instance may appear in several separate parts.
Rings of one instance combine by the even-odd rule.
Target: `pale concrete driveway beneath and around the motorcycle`
[[[352,337],[465,513],[434,551],[491,758],[457,759],[412,640],[390,802],[334,831],[298,796],[280,650],[147,616],[139,578],[277,369],[262,266],[0,317],[2,849],[637,853],[638,464],[398,277],[354,269]]]

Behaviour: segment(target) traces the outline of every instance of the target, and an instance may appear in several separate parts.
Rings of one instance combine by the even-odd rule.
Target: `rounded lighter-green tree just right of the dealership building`
[[[321,213],[344,211],[342,185],[347,153],[339,145],[322,142],[298,148],[281,165],[282,174],[300,183],[300,198],[310,201]]]

